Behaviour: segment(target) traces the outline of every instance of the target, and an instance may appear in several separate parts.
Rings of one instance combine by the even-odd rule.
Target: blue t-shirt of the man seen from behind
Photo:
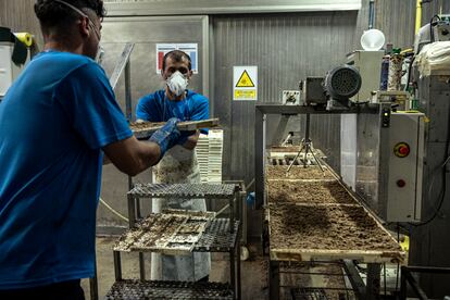
[[[0,289],[93,275],[102,147],[130,136],[96,62],[33,59],[0,103]]]

